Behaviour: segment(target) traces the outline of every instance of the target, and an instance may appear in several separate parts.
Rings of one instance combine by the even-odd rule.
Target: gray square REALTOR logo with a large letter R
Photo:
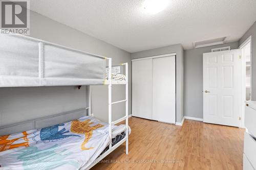
[[[29,35],[29,1],[0,0],[1,33]]]

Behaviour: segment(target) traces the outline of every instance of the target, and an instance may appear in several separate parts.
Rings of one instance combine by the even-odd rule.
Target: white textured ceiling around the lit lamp
[[[255,0],[169,0],[150,14],[142,0],[31,0],[31,10],[113,44],[138,52],[227,37],[239,40],[256,20]]]

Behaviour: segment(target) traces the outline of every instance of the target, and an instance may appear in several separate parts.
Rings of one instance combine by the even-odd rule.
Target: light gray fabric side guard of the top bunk
[[[106,58],[23,35],[0,34],[0,87],[102,85]]]

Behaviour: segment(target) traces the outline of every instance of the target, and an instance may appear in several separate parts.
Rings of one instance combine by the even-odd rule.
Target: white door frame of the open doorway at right
[[[242,48],[245,47],[248,43],[250,42],[250,62],[251,62],[251,36],[249,36],[240,46],[239,46],[239,55],[240,57],[242,57]],[[242,69],[244,69],[243,66],[246,66],[246,64],[242,65],[242,62],[244,62],[245,60],[241,59],[240,60],[240,99],[241,99],[241,105],[240,105],[240,125],[239,128],[245,128],[244,126],[244,116],[245,116],[245,100],[243,100],[244,98],[242,98],[242,96],[246,95],[246,90],[243,90],[244,88],[246,88],[246,86],[243,86],[243,84],[245,82],[242,82],[242,78],[245,75],[242,75]],[[251,87],[251,69],[250,69],[250,87]],[[250,94],[251,94],[251,90],[250,90]]]

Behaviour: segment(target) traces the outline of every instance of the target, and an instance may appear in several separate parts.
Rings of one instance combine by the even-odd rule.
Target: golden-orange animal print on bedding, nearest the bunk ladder
[[[80,122],[79,120],[74,120],[71,123],[71,132],[85,135],[84,141],[82,142],[82,145],[81,145],[81,150],[93,149],[93,147],[86,148],[85,145],[92,137],[93,131],[95,129],[103,127],[103,125],[101,124],[91,126],[94,123],[90,121],[91,121],[90,119],[84,120],[83,122]]]

